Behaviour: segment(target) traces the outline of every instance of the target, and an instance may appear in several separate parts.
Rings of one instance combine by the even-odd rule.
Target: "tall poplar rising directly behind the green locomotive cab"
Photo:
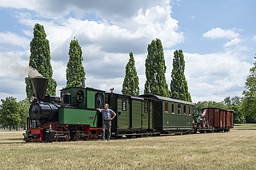
[[[85,87],[86,73],[82,66],[82,49],[78,40],[70,42],[70,59],[66,65],[66,87]]]

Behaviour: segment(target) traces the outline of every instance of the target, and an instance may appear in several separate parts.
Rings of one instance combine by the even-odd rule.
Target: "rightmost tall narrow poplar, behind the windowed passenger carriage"
[[[182,101],[192,101],[184,71],[185,61],[182,49],[175,50],[170,81],[170,96]]]

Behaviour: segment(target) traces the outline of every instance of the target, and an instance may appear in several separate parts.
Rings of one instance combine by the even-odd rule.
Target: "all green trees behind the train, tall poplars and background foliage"
[[[145,61],[146,82],[144,85],[145,94],[155,94],[162,97],[172,97],[182,101],[192,102],[185,77],[185,60],[182,49],[174,51],[173,69],[171,72],[170,89],[166,82],[166,64],[163,53],[162,42],[156,38],[147,47]],[[126,95],[139,95],[139,80],[135,67],[134,55],[129,53],[130,59],[126,65],[126,73],[122,84],[122,93]],[[70,42],[69,61],[66,65],[66,87],[85,87],[86,72],[82,66],[82,48],[78,39],[74,37]],[[44,27],[40,24],[34,25],[34,38],[30,42],[29,66],[36,69],[38,73],[49,79],[46,95],[56,96],[57,82],[53,79],[53,69],[50,64],[50,44],[46,39]],[[31,77],[25,78],[26,99],[16,101],[14,97],[6,97],[1,100],[0,125],[4,127],[22,127],[26,125],[28,116],[29,98],[33,93]],[[243,123],[250,118],[256,118],[256,63],[250,69],[250,75],[246,79],[246,90],[243,97],[226,97],[222,102],[199,101],[195,104],[194,112],[201,112],[202,108],[219,107],[234,110],[236,123]],[[248,118],[249,117],[249,118]]]

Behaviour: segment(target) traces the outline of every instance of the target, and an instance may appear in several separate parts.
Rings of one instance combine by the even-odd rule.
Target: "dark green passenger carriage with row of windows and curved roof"
[[[189,132],[193,128],[193,103],[146,94],[140,97],[154,100],[154,129],[159,132]]]

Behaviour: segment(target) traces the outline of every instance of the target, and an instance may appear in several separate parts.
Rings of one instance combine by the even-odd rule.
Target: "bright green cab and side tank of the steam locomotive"
[[[67,106],[59,109],[59,124],[90,125],[94,128],[100,125],[96,109],[104,107],[104,91],[73,87],[62,89],[61,96]]]

